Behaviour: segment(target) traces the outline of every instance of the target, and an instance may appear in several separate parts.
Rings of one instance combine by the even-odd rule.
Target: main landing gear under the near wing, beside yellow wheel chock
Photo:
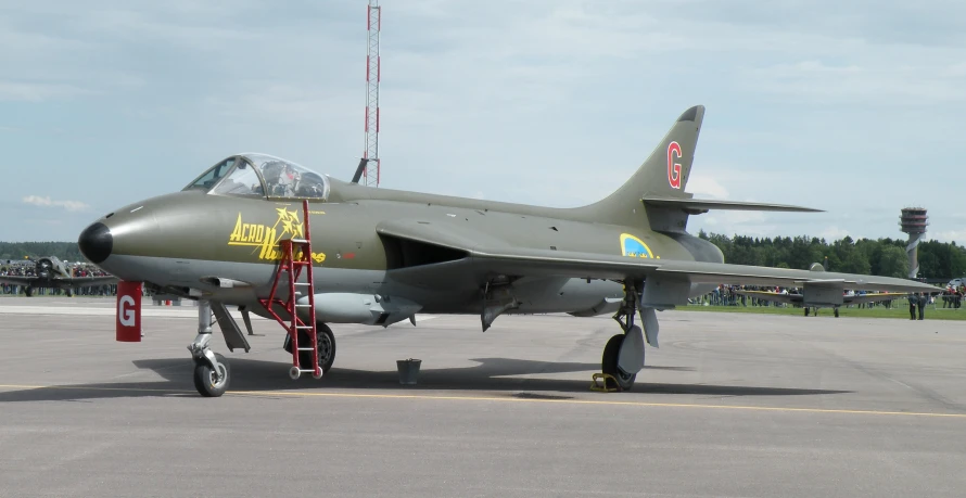
[[[634,387],[637,372],[644,368],[644,334],[634,318],[640,312],[640,320],[648,331],[648,343],[657,345],[658,319],[653,308],[639,308],[644,282],[624,284],[624,301],[613,316],[621,324],[623,334],[607,341],[600,358],[600,370],[606,376],[606,388],[630,391]],[[639,308],[639,309],[638,309]]]

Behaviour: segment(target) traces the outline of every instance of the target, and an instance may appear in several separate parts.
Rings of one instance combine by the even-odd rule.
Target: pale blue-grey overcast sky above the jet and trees
[[[689,191],[827,213],[717,212],[690,231],[895,238],[921,205],[929,238],[966,242],[962,1],[382,4],[383,187],[583,205],[704,104]],[[365,0],[0,3],[0,240],[76,240],[236,152],[349,179],[365,15]]]

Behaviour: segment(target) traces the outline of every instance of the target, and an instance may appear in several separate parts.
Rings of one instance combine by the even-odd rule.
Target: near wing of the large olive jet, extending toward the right
[[[411,254],[445,256],[438,263],[410,257],[414,264],[407,264],[404,257],[390,270],[394,279],[423,285],[479,288],[495,274],[507,274],[780,286],[835,282],[854,290],[937,292],[931,285],[889,277],[525,248],[446,224],[393,220],[379,224],[377,232],[384,240],[410,244]]]

